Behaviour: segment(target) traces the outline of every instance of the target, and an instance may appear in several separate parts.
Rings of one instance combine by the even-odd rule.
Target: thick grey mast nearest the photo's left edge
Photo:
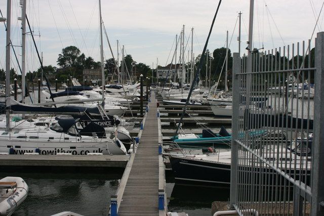
[[[7,0],[7,40],[6,40],[6,106],[10,106],[10,27],[11,0]],[[6,131],[10,130],[10,113],[6,109]]]

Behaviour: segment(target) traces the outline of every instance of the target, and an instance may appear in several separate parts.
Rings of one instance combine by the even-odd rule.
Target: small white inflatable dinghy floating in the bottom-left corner
[[[20,177],[5,177],[0,180],[0,215],[11,215],[26,199],[28,185]]]

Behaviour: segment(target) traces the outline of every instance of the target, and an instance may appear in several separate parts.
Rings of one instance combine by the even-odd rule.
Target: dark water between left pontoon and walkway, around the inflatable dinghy
[[[13,215],[52,215],[73,211],[83,215],[108,215],[122,171],[100,173],[0,172],[0,178],[19,176],[29,186],[26,200]]]

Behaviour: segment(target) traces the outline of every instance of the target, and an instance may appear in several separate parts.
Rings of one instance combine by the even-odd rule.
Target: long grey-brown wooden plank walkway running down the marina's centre
[[[158,215],[158,121],[152,93],[149,111],[118,215]]]

